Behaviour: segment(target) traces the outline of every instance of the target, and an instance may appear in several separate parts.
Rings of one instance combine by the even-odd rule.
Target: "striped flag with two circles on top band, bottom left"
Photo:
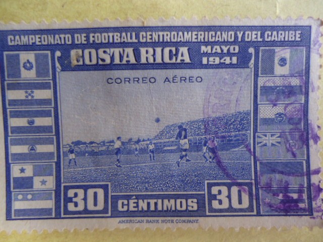
[[[53,192],[13,194],[13,217],[53,217]]]

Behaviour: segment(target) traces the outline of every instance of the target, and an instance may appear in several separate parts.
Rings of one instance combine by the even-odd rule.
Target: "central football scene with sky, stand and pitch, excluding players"
[[[91,85],[76,90],[82,82]],[[109,181],[112,192],[202,192],[205,180],[252,179],[251,92],[250,69],[62,73],[64,182]],[[187,130],[190,160],[179,165],[178,126]],[[203,157],[203,139],[212,136],[217,161]]]

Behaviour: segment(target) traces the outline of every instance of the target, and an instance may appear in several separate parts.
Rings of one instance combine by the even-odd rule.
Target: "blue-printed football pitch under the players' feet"
[[[201,152],[189,152],[190,162],[176,165],[179,153],[76,156],[77,165],[64,157],[64,183],[111,182],[113,193],[126,192],[202,192],[205,180],[252,179],[251,155],[247,151],[219,152],[220,163],[205,162]]]

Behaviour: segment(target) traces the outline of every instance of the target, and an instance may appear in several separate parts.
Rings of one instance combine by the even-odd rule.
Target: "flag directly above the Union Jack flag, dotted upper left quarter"
[[[258,131],[301,131],[301,105],[259,106]]]

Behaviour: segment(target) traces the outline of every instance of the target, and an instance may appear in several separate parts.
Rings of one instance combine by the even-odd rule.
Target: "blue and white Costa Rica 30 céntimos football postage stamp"
[[[319,25],[1,25],[0,228],[322,226]]]

